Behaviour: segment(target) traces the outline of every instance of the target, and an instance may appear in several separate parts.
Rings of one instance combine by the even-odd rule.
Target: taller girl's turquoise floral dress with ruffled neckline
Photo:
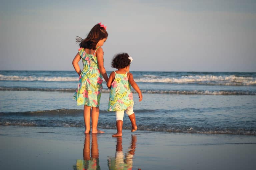
[[[78,87],[73,98],[77,101],[78,106],[98,107],[100,105],[103,80],[99,71],[97,57],[95,52],[94,54],[87,54],[84,48],[79,48],[78,51],[82,57],[84,68],[79,77]]]

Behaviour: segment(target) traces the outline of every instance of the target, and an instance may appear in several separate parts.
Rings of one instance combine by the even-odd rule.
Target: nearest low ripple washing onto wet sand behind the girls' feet
[[[0,120],[0,126],[24,126],[24,127],[67,127],[67,128],[83,128],[83,121],[46,121],[46,120]],[[143,131],[159,131],[159,132],[178,132],[178,133],[202,133],[202,134],[234,134],[234,135],[256,135],[256,130],[253,129],[220,129],[220,128],[192,128],[192,127],[155,127],[137,125],[138,130]],[[114,123],[98,123],[98,128],[116,129]],[[131,129],[129,125],[124,124],[123,129]]]

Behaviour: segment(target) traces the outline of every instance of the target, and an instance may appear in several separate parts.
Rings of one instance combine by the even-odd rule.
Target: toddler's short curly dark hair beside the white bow
[[[125,68],[130,65],[131,60],[128,58],[129,55],[127,53],[118,53],[112,58],[111,67],[120,69]]]

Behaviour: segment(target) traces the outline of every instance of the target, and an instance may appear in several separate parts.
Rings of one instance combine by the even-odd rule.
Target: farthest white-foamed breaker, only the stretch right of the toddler
[[[256,78],[242,77],[236,75],[214,76],[214,75],[188,75],[180,77],[166,77],[155,75],[144,75],[135,78],[136,82],[147,83],[176,83],[176,84],[207,84],[207,85],[256,85]]]

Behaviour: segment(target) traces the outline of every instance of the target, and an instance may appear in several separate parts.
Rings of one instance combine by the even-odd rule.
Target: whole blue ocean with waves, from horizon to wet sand
[[[138,130],[256,135],[256,73],[131,71]],[[110,71],[107,72],[110,74]],[[0,126],[84,127],[75,71],[0,71]],[[98,128],[115,129],[103,82]],[[124,129],[130,129],[124,116]]]

